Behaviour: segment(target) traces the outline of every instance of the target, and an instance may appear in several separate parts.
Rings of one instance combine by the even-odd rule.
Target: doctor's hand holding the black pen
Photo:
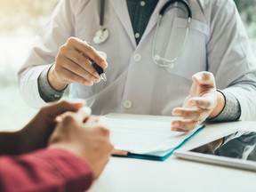
[[[100,82],[100,76],[92,67],[94,60],[101,68],[108,63],[90,44],[70,37],[60,46],[55,62],[48,73],[48,80],[55,90],[61,91],[68,84],[78,83],[91,86]]]

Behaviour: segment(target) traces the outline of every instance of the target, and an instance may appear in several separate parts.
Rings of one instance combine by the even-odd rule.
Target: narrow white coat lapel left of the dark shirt
[[[131,39],[133,46],[136,47],[136,41],[132,29],[132,22],[130,20],[126,0],[109,0],[109,2],[113,6],[117,17],[121,21],[127,35]]]

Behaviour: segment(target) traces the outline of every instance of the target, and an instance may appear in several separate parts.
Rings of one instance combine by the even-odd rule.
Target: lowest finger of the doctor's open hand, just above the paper
[[[191,119],[173,120],[171,123],[171,130],[173,132],[188,132],[198,127],[199,124],[200,122]]]

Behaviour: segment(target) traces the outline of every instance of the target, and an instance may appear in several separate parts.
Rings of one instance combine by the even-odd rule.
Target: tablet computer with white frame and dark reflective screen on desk
[[[256,132],[235,132],[197,148],[177,150],[174,155],[186,160],[256,172]]]

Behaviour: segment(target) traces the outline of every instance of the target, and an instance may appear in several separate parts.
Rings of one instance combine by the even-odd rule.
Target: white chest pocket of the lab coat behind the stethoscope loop
[[[210,28],[206,23],[191,20],[186,38],[187,26],[187,19],[174,20],[164,58],[177,58],[173,65],[166,68],[168,73],[191,79],[197,72],[206,70],[206,44],[210,38]]]

